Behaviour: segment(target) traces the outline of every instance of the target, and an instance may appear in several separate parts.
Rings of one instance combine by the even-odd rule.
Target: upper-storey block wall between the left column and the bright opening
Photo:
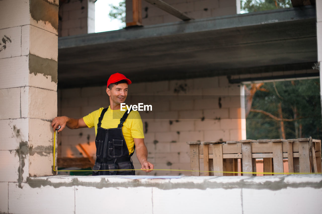
[[[58,36],[71,36],[95,32],[95,1],[64,1],[59,7]]]

